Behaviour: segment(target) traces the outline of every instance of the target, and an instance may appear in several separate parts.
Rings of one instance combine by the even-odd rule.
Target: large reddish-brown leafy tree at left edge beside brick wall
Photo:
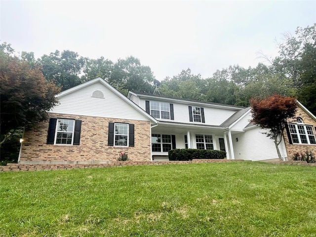
[[[29,127],[45,120],[46,111],[57,104],[58,89],[43,77],[40,67],[32,67],[13,56],[12,51],[0,50],[0,72],[2,144],[18,127]]]

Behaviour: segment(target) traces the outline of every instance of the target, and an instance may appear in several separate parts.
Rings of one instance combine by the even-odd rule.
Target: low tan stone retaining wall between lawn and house
[[[192,164],[192,163],[215,163],[215,162],[236,162],[243,159],[195,159],[193,161],[112,161],[103,164],[13,164],[0,166],[0,172],[7,171],[35,171],[35,170],[63,170],[63,169],[85,169],[105,168],[133,165],[163,165],[163,164]]]

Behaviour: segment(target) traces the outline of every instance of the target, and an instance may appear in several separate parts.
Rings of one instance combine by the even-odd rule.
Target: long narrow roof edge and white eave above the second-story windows
[[[143,93],[143,92],[137,92],[136,93],[136,92],[133,92],[133,91],[129,91],[127,97],[130,98],[131,95],[145,97],[145,98],[158,98],[158,99],[162,99],[162,100],[182,102],[182,103],[183,102],[194,102],[194,103],[197,103],[197,104],[205,104],[205,105],[210,105],[210,106],[213,106],[213,107],[229,107],[229,108],[235,109],[235,110],[240,110],[240,109],[244,109],[245,108],[243,106],[226,105],[226,104],[213,103],[213,102],[207,102],[207,101],[183,99],[183,98],[177,98],[177,97],[172,97],[172,96],[156,95],[156,94]]]

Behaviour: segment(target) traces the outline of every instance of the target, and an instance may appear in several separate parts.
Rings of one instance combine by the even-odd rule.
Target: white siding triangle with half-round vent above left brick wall
[[[103,93],[104,99],[92,97],[93,92],[96,90]],[[49,111],[50,113],[148,120],[145,115],[142,115],[100,82],[83,87],[77,91],[62,96],[58,100],[60,104],[51,109]]]

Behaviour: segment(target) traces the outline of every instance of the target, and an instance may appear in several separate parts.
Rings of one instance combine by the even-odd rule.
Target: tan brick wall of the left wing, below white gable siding
[[[47,145],[49,119],[25,131],[20,162],[22,161],[114,161],[121,152],[130,160],[145,161],[151,157],[150,121],[99,118],[75,115],[48,114],[49,118],[80,119],[80,145]],[[108,146],[109,122],[134,124],[135,146]]]

